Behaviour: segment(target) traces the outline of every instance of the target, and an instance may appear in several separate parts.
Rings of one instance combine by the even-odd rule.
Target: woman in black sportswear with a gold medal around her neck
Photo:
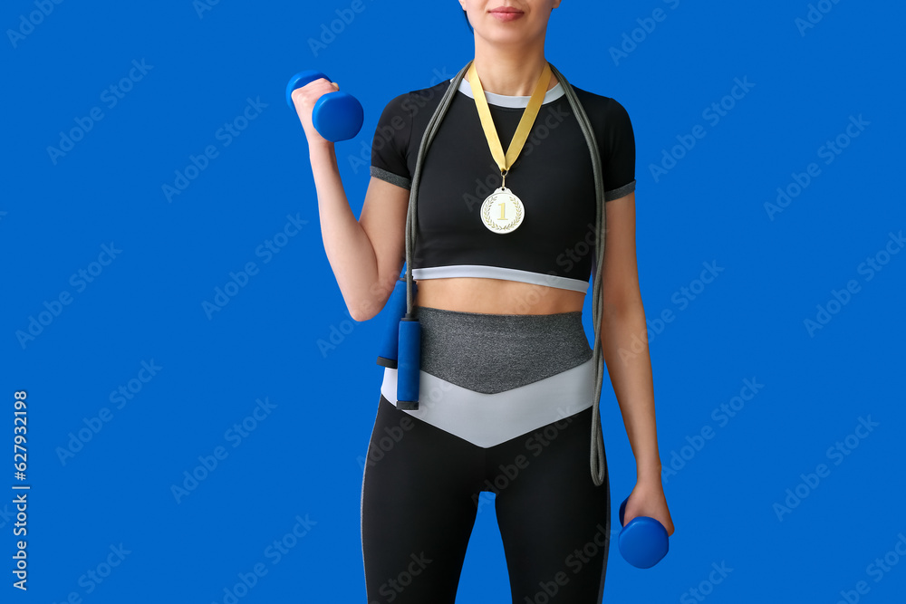
[[[583,129],[545,59],[547,23],[560,0],[459,3],[474,31],[475,58],[454,83],[387,104],[358,220],[333,143],[312,124],[314,102],[339,86],[319,80],[293,95],[309,142],[324,248],[356,321],[380,312],[397,282],[410,189],[421,175],[409,267],[418,280],[421,401],[418,409],[397,407],[396,369],[385,369],[362,480],[368,601],[454,602],[480,494],[490,492],[514,602],[554,595],[601,602],[611,506],[606,467],[602,476],[593,469],[594,480],[587,470],[587,435],[597,417],[582,327],[596,264],[596,189]],[[416,170],[419,141],[456,81]],[[647,347],[633,348],[646,325],[631,122],[617,101],[571,90],[602,159],[607,236],[599,330],[637,470],[625,522],[651,516],[670,534],[651,360]],[[506,187],[506,202],[488,195],[498,187]]]

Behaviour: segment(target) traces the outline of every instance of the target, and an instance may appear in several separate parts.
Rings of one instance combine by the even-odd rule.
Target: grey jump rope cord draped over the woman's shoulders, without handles
[[[444,93],[443,98],[440,100],[438,109],[434,111],[434,115],[431,116],[431,120],[428,123],[428,127],[425,129],[425,133],[421,137],[419,156],[415,163],[415,174],[412,175],[412,185],[409,195],[409,208],[406,212],[406,318],[408,319],[414,318],[414,302],[412,299],[412,246],[415,242],[418,225],[416,210],[419,198],[419,183],[421,182],[421,168],[424,164],[425,156],[428,154],[428,149],[431,145],[431,141],[434,139],[434,136],[435,134],[437,134],[437,131],[440,127],[440,122],[444,119],[444,116],[447,115],[447,110],[449,108],[450,102],[453,101],[454,95],[459,90],[459,83],[466,75],[466,72],[468,71],[468,68],[471,66],[471,64],[472,62],[469,61],[465,67],[459,70],[453,81],[450,82],[447,91]],[[606,212],[604,212],[603,208],[604,185],[601,168],[601,154],[598,150],[597,141],[594,139],[594,132],[591,122],[588,120],[588,116],[585,114],[582,103],[579,102],[575,91],[573,91],[572,85],[570,85],[570,83],[566,81],[566,78],[564,78],[563,74],[557,71],[553,64],[551,64],[550,62],[548,62],[548,64],[551,65],[551,72],[554,74],[554,77],[556,77],[557,81],[561,82],[561,85],[563,86],[564,92],[566,94],[566,99],[569,101],[570,106],[573,108],[573,113],[575,114],[576,120],[579,122],[579,128],[582,129],[582,133],[585,137],[585,141],[588,144],[588,149],[592,156],[594,193],[597,202],[596,225],[598,225],[598,228],[594,237],[596,259],[594,280],[592,282],[592,321],[594,327],[592,364],[594,366],[594,399],[592,403],[592,444],[589,464],[592,472],[592,480],[595,486],[600,486],[601,484],[603,484],[607,474],[607,455],[604,451],[600,411],[601,388],[603,383],[603,355],[601,350],[601,337],[599,331],[602,318],[601,273],[604,260],[604,228],[606,224]]]

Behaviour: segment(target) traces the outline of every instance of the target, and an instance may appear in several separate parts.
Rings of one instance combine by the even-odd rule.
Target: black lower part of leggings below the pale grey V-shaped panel
[[[589,471],[591,407],[489,448],[381,395],[362,477],[368,604],[454,604],[481,491],[496,494],[514,604],[600,604],[609,476]]]

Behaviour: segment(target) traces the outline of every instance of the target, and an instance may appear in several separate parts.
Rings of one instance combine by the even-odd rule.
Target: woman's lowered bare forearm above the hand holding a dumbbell
[[[602,353],[635,455],[638,480],[660,482],[654,384],[645,328],[641,300],[605,308]]]

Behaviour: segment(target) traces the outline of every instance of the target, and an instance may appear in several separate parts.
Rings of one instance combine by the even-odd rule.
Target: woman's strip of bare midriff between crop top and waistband
[[[554,314],[581,312],[585,302],[583,292],[503,279],[448,277],[416,283],[416,305],[446,311]]]

